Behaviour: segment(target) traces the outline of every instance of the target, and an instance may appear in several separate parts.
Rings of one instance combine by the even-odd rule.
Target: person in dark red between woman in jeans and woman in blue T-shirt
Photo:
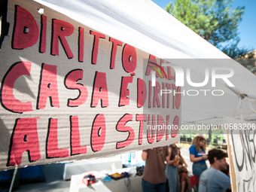
[[[180,158],[178,162],[178,178],[181,192],[185,192],[188,187],[188,178],[187,178],[187,163],[184,161],[184,158],[181,156],[181,150],[178,148],[178,156]]]

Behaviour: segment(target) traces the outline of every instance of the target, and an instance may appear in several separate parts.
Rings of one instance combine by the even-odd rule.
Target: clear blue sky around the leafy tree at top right
[[[160,8],[165,8],[169,2],[174,0],[152,0]],[[239,23],[239,47],[245,46],[256,49],[256,0],[234,0],[232,8],[245,6],[242,22]]]

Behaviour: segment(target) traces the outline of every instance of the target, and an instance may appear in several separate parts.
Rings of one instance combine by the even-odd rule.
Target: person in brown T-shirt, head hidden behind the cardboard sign
[[[166,172],[164,161],[168,160],[168,147],[151,148],[142,151],[145,169],[142,176],[144,192],[166,191]]]

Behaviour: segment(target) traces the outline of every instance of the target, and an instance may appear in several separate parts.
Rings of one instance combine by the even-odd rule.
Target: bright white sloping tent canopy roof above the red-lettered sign
[[[256,99],[250,88],[256,77],[239,63],[209,44],[162,8],[149,0],[35,0],[92,29],[116,38],[161,59],[227,59],[219,66],[232,67],[236,74],[234,93]],[[175,63],[201,74],[189,62]],[[206,64],[205,64],[206,65]],[[216,66],[216,63],[212,63]],[[221,82],[224,83],[224,82]]]

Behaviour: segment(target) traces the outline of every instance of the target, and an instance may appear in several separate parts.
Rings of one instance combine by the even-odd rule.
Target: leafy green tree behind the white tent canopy
[[[249,49],[237,47],[238,25],[245,7],[232,11],[232,2],[233,0],[175,0],[166,5],[165,10],[228,56],[236,58]],[[226,45],[223,46],[223,43]]]

